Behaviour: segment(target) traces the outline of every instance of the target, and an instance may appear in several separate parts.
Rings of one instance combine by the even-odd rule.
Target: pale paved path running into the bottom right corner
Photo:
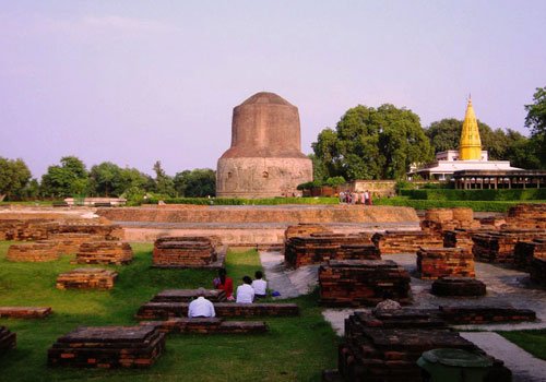
[[[546,382],[546,361],[531,356],[501,335],[490,332],[465,332],[461,335],[489,356],[503,360],[512,371],[513,382]]]

